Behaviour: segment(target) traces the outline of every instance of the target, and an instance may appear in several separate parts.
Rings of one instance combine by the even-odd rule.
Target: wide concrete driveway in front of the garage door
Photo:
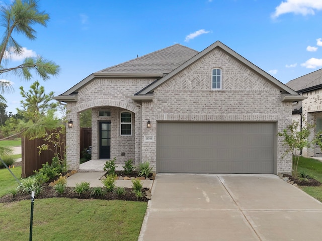
[[[276,175],[157,174],[138,240],[321,239],[322,203]]]

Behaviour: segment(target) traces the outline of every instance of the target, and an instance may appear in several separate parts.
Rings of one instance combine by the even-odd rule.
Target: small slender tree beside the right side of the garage
[[[300,152],[303,148],[309,148],[310,142],[308,137],[310,135],[310,129],[313,128],[313,125],[303,122],[305,125],[299,127],[299,122],[293,121],[293,123],[287,126],[287,129],[284,129],[283,132],[279,132],[278,135],[283,137],[283,146],[288,146],[288,149],[285,151],[283,158],[291,153],[292,155],[292,175],[297,176],[297,166],[299,161],[299,155],[297,152]],[[299,153],[298,153],[299,154]]]

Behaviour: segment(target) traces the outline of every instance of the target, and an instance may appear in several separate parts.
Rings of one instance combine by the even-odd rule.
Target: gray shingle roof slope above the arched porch
[[[170,73],[196,54],[196,50],[175,44],[97,73]]]

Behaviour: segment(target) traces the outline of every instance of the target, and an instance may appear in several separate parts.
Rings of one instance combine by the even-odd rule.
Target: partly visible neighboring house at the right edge
[[[309,140],[315,134],[322,131],[322,69],[303,75],[289,81],[287,84],[297,93],[302,94],[306,99],[294,102],[293,119],[301,125],[309,123],[314,125]],[[312,146],[302,150],[304,157],[321,157],[322,152],[319,146]]]

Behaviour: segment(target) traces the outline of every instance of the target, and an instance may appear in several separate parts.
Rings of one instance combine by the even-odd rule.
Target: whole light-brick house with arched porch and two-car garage
[[[277,136],[303,97],[217,41],[176,44],[95,72],[67,103],[67,164],[79,168],[79,113],[92,109],[92,160],[167,173],[290,173]]]

